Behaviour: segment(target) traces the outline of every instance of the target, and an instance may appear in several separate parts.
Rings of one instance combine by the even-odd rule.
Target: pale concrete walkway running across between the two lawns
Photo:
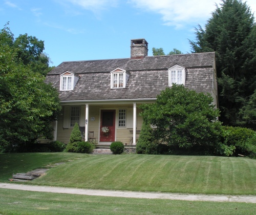
[[[16,183],[0,183],[0,188],[38,191],[38,192],[70,193],[70,194],[77,194],[77,195],[104,196],[104,197],[256,203],[256,196],[191,195],[191,194],[179,194],[179,193],[112,191],[112,190],[36,186],[36,185],[24,185],[24,184],[16,184]]]

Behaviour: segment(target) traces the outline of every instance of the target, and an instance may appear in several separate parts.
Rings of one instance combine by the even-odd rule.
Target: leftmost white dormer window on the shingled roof
[[[60,75],[60,91],[71,91],[74,89],[79,76],[72,72],[66,71]]]

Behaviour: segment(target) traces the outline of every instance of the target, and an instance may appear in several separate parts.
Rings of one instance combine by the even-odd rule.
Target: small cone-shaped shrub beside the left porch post
[[[75,123],[73,130],[70,135],[70,141],[66,147],[67,152],[78,152],[78,143],[82,142],[81,132],[79,125]]]

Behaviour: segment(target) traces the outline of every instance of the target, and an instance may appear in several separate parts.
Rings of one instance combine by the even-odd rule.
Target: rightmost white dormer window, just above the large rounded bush
[[[168,69],[169,87],[172,87],[173,83],[184,84],[186,80],[186,69],[175,65]]]

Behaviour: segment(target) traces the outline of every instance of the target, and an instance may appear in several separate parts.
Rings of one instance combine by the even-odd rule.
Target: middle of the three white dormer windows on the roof
[[[117,68],[111,72],[111,89],[125,88],[126,82],[130,77],[130,73]]]

